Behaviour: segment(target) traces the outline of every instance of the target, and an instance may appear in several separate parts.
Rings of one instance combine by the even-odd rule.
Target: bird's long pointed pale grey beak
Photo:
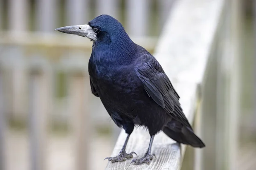
[[[96,41],[96,33],[93,31],[93,28],[89,25],[79,25],[79,26],[65,26],[55,29],[55,31],[60,31],[66,34],[75,34],[82,37],[87,37],[90,40]]]

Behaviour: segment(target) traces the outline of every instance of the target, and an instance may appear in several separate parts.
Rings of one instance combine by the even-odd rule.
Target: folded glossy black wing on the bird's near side
[[[140,64],[135,71],[148,95],[177,121],[191,127],[180,107],[180,97],[159,62],[151,54],[144,54],[138,59]]]

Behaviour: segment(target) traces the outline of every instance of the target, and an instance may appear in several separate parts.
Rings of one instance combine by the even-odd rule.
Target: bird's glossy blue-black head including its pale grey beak
[[[55,30],[87,37],[93,42],[111,43],[120,38],[130,39],[122,24],[109,15],[100,15],[85,25],[65,26]]]

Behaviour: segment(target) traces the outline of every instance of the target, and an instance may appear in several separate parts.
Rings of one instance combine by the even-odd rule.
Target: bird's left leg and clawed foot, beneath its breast
[[[135,152],[131,152],[131,153],[125,152],[129,137],[130,137],[130,134],[128,134],[128,136],[126,137],[125,143],[124,143],[122,149],[120,150],[119,154],[116,157],[107,157],[105,159],[108,159],[108,161],[111,161],[112,163],[117,162],[117,161],[122,162],[122,161],[125,161],[126,159],[132,158],[133,157],[132,154],[137,155]]]

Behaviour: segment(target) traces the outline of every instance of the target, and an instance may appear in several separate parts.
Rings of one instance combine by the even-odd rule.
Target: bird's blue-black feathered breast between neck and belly
[[[127,112],[140,102],[137,98],[144,92],[144,86],[133,65],[116,66],[92,60],[89,74],[102,103],[109,108],[122,108]],[[120,107],[122,105],[125,108]]]

